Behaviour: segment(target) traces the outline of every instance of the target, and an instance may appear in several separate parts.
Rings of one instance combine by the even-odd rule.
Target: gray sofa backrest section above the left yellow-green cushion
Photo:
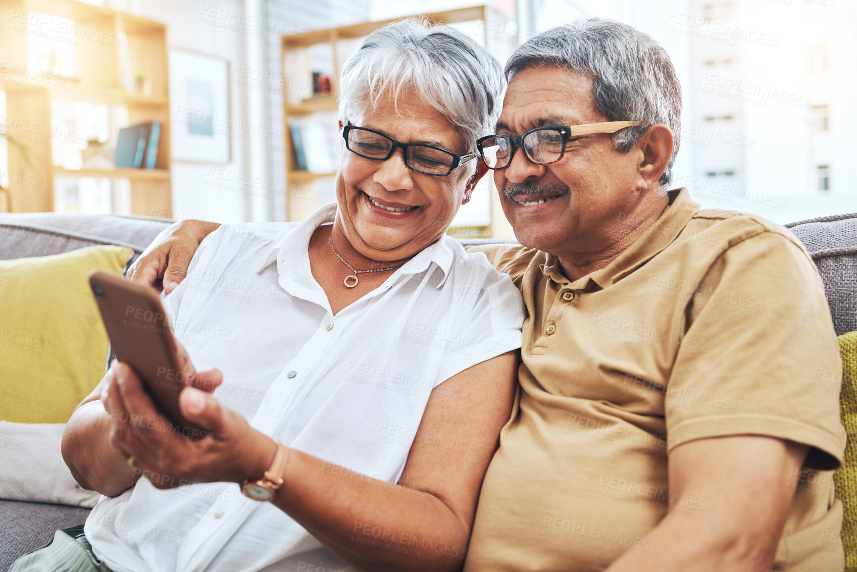
[[[0,214],[0,260],[119,244],[138,256],[171,220],[118,214]]]

